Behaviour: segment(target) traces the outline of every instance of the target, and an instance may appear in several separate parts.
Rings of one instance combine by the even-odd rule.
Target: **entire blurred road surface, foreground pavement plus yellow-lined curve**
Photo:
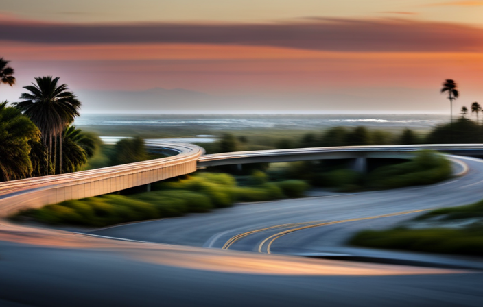
[[[461,159],[467,175],[435,186],[246,204],[95,232],[193,246],[1,222],[0,306],[480,306],[479,271],[265,254],[269,244],[272,253],[325,251],[357,227],[411,216],[381,215],[483,198],[481,160]],[[303,228],[311,225],[320,227]],[[287,230],[297,231],[280,236]]]

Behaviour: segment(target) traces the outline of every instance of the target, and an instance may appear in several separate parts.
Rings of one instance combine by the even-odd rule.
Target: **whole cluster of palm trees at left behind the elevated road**
[[[10,61],[0,58],[0,84],[14,86]],[[0,103],[0,181],[79,171],[100,145],[73,126],[82,103],[58,77],[36,77],[20,101]]]

